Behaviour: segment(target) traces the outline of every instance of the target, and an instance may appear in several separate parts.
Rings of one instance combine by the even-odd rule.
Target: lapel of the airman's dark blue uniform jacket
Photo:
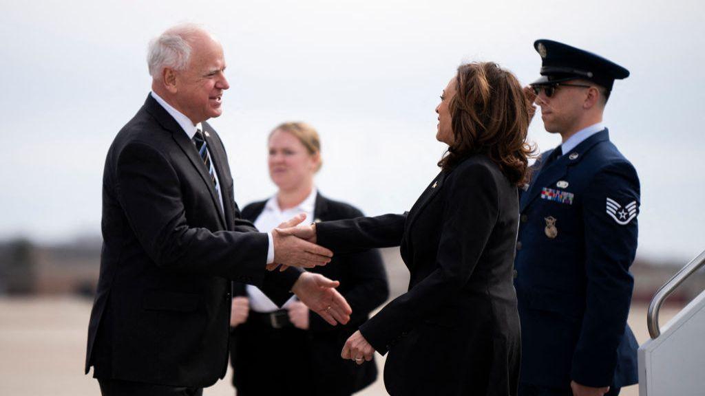
[[[536,177],[531,181],[529,190],[522,194],[520,211],[524,211],[524,209],[526,209],[526,207],[529,206],[529,204],[531,204],[534,199],[539,196],[539,194],[541,194],[544,187],[548,187],[553,184],[553,182],[556,182],[563,175],[568,173],[568,168],[579,163],[583,159],[584,154],[587,153],[589,149],[594,147],[595,144],[606,140],[609,140],[609,134],[608,130],[605,128],[605,130],[597,132],[591,137],[588,137],[586,140],[580,142],[580,144],[578,144],[574,149],[563,154],[560,158],[556,159],[556,161],[549,163],[548,166],[541,166],[541,169],[537,173]],[[546,153],[541,156],[541,160],[548,158],[548,156],[551,155],[551,152],[553,152],[553,150],[546,151]]]

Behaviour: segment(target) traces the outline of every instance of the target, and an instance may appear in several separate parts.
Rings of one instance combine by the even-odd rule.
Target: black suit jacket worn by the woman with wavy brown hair
[[[360,326],[393,395],[516,395],[517,188],[486,156],[441,172],[407,215],[317,225],[334,254],[401,245],[409,291]]]

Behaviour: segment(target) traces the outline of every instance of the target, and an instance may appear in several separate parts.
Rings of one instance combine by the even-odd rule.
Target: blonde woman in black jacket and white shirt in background
[[[300,213],[310,221],[362,216],[355,207],[318,192],[314,175],[321,168],[321,144],[310,125],[278,125],[269,134],[268,146],[269,176],[278,191],[245,206],[243,218],[269,230]],[[257,287],[234,284],[231,362],[239,396],[342,396],[374,382],[375,364],[357,366],[341,359],[340,351],[369,312],[388,297],[379,252],[341,254],[312,271],[341,282],[338,291],[353,307],[347,325],[330,326],[295,297],[278,309]],[[278,369],[285,366],[286,372]]]

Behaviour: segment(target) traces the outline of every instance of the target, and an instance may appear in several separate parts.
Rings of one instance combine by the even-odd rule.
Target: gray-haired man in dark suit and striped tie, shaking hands
[[[150,44],[148,62],[152,92],[105,162],[85,369],[104,395],[200,395],[226,372],[230,280],[280,304],[292,290],[331,324],[347,322],[350,307],[323,276],[265,269],[323,265],[330,251],[240,219],[225,149],[206,123],[229,87],[221,44],[179,25]]]

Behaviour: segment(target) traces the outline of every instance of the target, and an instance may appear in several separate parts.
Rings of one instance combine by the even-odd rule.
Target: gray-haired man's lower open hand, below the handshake
[[[331,326],[336,326],[336,323],[348,323],[350,314],[353,313],[345,297],[335,289],[340,284],[337,280],[330,280],[318,273],[304,272],[296,280],[291,291],[309,309],[319,314]]]

